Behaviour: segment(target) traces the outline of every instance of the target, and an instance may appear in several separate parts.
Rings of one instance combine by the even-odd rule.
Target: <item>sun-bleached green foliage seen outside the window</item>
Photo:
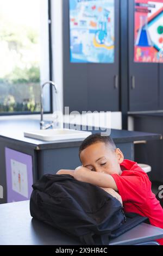
[[[40,111],[39,34],[0,10],[0,113]]]

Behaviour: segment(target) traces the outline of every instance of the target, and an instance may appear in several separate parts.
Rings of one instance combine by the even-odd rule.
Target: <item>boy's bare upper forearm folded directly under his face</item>
[[[112,188],[118,191],[114,178],[109,174],[93,172],[88,168],[80,166],[74,170],[73,176],[76,180],[91,183],[99,187]]]

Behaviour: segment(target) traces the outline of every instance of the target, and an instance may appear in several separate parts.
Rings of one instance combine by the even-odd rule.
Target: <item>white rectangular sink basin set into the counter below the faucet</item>
[[[40,139],[41,141],[65,141],[66,139],[84,139],[91,132],[71,129],[50,129],[24,132],[25,137]]]

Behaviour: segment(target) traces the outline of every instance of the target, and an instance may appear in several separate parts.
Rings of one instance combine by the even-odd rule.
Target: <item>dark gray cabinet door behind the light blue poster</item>
[[[70,111],[119,111],[119,13],[115,0],[115,62],[70,63],[69,2],[63,1],[64,106]]]

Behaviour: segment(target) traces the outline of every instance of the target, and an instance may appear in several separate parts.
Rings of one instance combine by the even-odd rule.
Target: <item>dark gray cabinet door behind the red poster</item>
[[[129,0],[129,111],[151,111],[159,108],[157,63],[134,62],[134,0]]]

